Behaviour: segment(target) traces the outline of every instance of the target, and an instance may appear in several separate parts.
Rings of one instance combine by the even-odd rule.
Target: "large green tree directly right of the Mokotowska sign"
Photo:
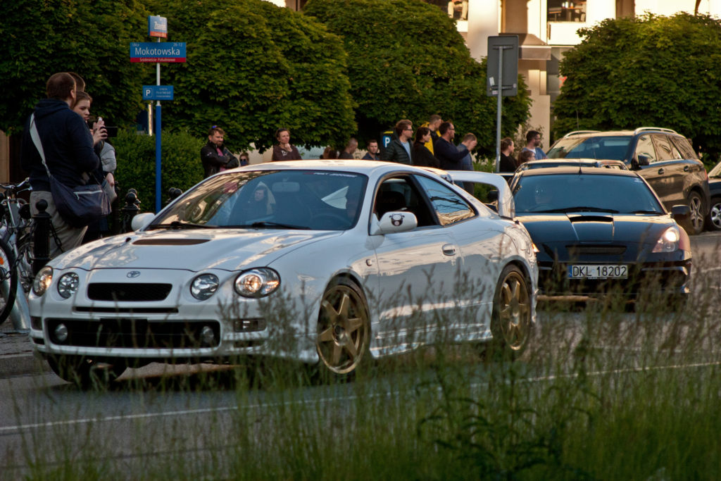
[[[236,150],[267,149],[278,127],[306,146],[355,131],[345,51],[318,22],[261,0],[156,4],[169,36],[187,43],[187,63],[164,73],[176,92],[167,125],[203,137],[221,125]]]

